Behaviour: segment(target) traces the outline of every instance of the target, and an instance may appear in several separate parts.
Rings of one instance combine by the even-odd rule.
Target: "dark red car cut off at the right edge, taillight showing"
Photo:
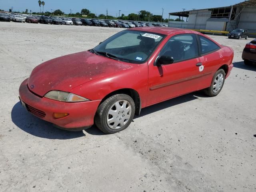
[[[246,65],[256,64],[256,39],[246,44],[242,53],[242,59]]]

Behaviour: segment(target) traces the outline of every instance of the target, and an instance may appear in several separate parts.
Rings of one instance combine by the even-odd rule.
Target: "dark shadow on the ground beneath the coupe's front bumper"
[[[60,130],[53,124],[41,120],[27,112],[20,102],[12,108],[12,122],[23,131],[41,138],[47,139],[73,139],[85,136],[83,131],[71,132]]]

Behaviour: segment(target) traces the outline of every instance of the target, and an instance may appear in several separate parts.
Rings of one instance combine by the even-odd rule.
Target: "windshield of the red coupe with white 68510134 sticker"
[[[124,30],[108,38],[91,52],[130,63],[143,63],[164,38],[162,34]],[[104,54],[103,54],[104,53]]]

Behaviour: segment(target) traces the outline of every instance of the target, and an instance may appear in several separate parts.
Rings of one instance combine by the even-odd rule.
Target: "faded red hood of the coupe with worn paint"
[[[88,51],[79,52],[38,65],[28,79],[28,88],[39,96],[51,90],[71,92],[76,86],[136,66]]]

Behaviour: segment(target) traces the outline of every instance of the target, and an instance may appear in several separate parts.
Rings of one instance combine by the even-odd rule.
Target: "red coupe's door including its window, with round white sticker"
[[[156,60],[148,63],[147,105],[198,90],[204,75],[195,34],[177,35],[168,40]],[[157,66],[161,56],[172,57],[172,64]]]

